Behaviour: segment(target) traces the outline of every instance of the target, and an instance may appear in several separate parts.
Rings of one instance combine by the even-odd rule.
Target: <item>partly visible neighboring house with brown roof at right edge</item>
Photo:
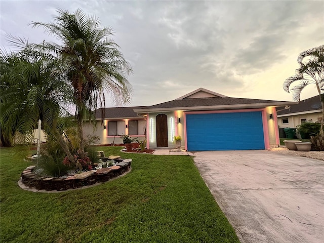
[[[277,117],[279,128],[296,128],[305,121],[321,121],[321,102],[316,95],[306,100],[300,101],[296,105],[285,108],[277,107]]]

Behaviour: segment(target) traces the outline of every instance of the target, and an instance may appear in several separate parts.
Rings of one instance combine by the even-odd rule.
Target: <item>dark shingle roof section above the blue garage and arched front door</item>
[[[148,110],[196,110],[196,109],[233,109],[233,108],[261,108],[266,106],[284,106],[288,104],[296,104],[296,102],[274,101],[274,100],[259,100],[246,98],[231,98],[231,97],[213,97],[213,98],[195,98],[172,100],[157,105],[135,109],[137,112],[145,112]]]

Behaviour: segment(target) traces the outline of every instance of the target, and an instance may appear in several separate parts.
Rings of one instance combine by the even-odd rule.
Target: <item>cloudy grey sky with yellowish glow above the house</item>
[[[293,101],[282,89],[298,55],[324,44],[324,1],[0,1],[0,45],[8,34],[56,41],[31,21],[82,9],[114,29],[134,74],[129,106],[154,105],[198,88],[229,97]],[[317,95],[314,85],[301,100]],[[109,96],[108,96],[109,97]],[[106,107],[112,107],[111,99]]]

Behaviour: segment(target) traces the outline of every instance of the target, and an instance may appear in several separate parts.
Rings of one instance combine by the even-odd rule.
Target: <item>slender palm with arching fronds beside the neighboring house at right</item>
[[[304,60],[307,59],[305,62]],[[322,120],[320,134],[324,136],[324,45],[311,48],[299,54],[297,62],[300,67],[296,70],[296,75],[287,78],[283,88],[286,92],[293,94],[293,99],[299,101],[300,93],[309,84],[314,84],[318,92],[318,98],[321,102]],[[291,88],[291,85],[299,82]]]

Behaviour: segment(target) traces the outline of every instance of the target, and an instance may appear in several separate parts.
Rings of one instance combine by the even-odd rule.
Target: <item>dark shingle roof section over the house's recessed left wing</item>
[[[138,118],[140,117],[134,109],[142,109],[146,106],[132,106],[132,107],[110,107],[105,108],[105,119],[121,119],[121,118]],[[102,118],[102,109],[96,110],[96,118]]]

